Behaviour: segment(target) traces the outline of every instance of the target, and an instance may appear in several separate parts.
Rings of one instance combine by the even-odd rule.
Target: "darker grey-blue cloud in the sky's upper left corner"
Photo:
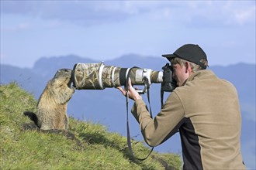
[[[119,22],[131,15],[121,2],[90,1],[4,1],[3,14],[29,15],[41,19],[74,22],[91,26],[105,22]]]

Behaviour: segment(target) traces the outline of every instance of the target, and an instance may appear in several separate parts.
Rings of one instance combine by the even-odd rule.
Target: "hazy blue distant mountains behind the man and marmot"
[[[43,57],[36,61],[32,69],[22,69],[16,66],[1,64],[1,83],[16,81],[27,91],[40,97],[47,81],[61,68],[72,69],[75,63],[100,63],[99,60],[81,58],[79,56]],[[106,60],[106,66],[150,68],[161,70],[168,63],[163,57],[146,57],[130,54],[117,59]],[[220,78],[229,80],[237,87],[242,114],[241,147],[244,162],[255,168],[255,64],[237,63],[230,66],[210,66]],[[143,87],[141,87],[143,88]],[[154,116],[160,110],[160,84],[150,86],[150,103]],[[168,93],[165,94],[165,98]],[[147,95],[144,95],[147,101]],[[130,101],[129,110],[133,102]],[[24,108],[26,110],[26,108]],[[68,104],[69,116],[80,120],[99,122],[105,124],[109,131],[116,131],[126,135],[126,100],[115,88],[105,90],[76,90]],[[139,125],[130,114],[130,131],[133,138],[143,140]],[[181,152],[179,136],[173,138],[156,148],[157,151]]]

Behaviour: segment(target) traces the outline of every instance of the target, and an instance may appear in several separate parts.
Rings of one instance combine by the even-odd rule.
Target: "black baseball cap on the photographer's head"
[[[207,61],[207,56],[199,45],[185,44],[184,46],[179,47],[175,53],[163,54],[162,56],[166,57],[169,61],[175,57],[185,59],[189,62],[202,66],[203,69],[206,69],[206,66],[202,63],[201,59],[206,59]]]

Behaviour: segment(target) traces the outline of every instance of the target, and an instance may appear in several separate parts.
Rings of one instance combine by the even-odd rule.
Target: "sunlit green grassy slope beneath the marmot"
[[[24,130],[31,121],[25,110],[36,110],[31,93],[16,83],[0,86],[0,169],[180,169],[180,155],[153,151],[146,161],[133,161],[126,138],[109,132],[102,124],[70,117],[64,134]],[[143,158],[150,151],[142,141],[132,141],[134,154]]]

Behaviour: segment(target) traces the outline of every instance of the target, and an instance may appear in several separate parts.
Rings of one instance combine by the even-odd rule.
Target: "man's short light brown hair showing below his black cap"
[[[206,67],[208,66],[208,62],[206,59],[201,59],[200,60]],[[181,58],[178,58],[178,57],[175,57],[173,59],[171,59],[171,66],[175,65],[175,64],[179,64],[181,66],[185,66],[185,63],[186,62],[189,62],[185,59],[181,59]],[[196,71],[199,71],[199,70],[204,70],[202,68],[202,66],[199,66],[198,64],[195,64],[195,63],[192,63],[192,62],[189,62],[190,66],[191,66],[191,69],[192,69],[192,72],[195,73]]]

